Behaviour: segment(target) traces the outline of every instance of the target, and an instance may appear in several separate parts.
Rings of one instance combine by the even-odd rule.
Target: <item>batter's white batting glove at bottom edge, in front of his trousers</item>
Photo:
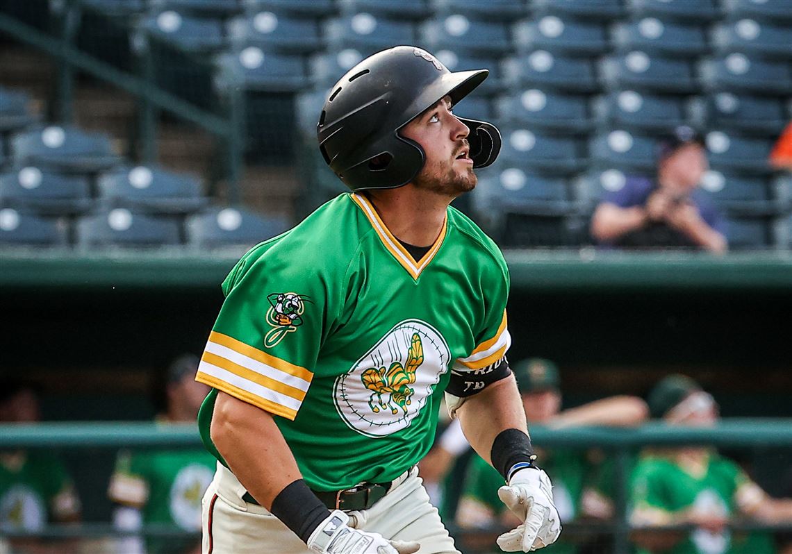
[[[319,554],[413,554],[417,542],[388,541],[379,533],[348,526],[349,516],[333,510],[308,538],[308,548]]]

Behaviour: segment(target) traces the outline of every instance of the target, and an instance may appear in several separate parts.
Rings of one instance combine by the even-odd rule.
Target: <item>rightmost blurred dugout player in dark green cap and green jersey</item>
[[[674,426],[710,427],[719,417],[714,398],[683,375],[660,381],[649,393],[649,409]],[[729,522],[792,522],[792,499],[771,498],[709,446],[646,449],[634,467],[630,495],[638,554],[773,554],[771,533],[730,530]],[[695,529],[647,530],[666,525]]]

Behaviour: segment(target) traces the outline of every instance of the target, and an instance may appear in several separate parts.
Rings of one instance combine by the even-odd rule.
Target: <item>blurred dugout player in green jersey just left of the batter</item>
[[[193,379],[198,358],[181,355],[166,372],[166,384],[157,422],[194,424],[209,387]],[[162,397],[162,394],[155,397]],[[110,479],[108,495],[116,509],[113,525],[122,531],[143,526],[170,526],[195,537],[120,539],[124,554],[194,554],[200,552],[200,501],[215,475],[215,458],[200,446],[177,450],[122,451]]]

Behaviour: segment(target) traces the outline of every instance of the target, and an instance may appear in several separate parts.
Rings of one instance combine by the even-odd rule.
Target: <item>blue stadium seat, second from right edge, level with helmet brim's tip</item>
[[[658,93],[693,93],[698,90],[693,64],[686,59],[650,56],[636,50],[600,65],[611,89],[645,89]]]

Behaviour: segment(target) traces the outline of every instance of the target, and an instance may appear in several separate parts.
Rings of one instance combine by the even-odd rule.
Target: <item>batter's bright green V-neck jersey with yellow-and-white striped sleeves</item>
[[[196,375],[215,389],[204,442],[219,457],[208,429],[222,390],[276,416],[314,490],[416,464],[451,372],[476,389],[511,343],[503,256],[451,207],[416,261],[363,195],[340,195],[250,250],[223,291]]]

